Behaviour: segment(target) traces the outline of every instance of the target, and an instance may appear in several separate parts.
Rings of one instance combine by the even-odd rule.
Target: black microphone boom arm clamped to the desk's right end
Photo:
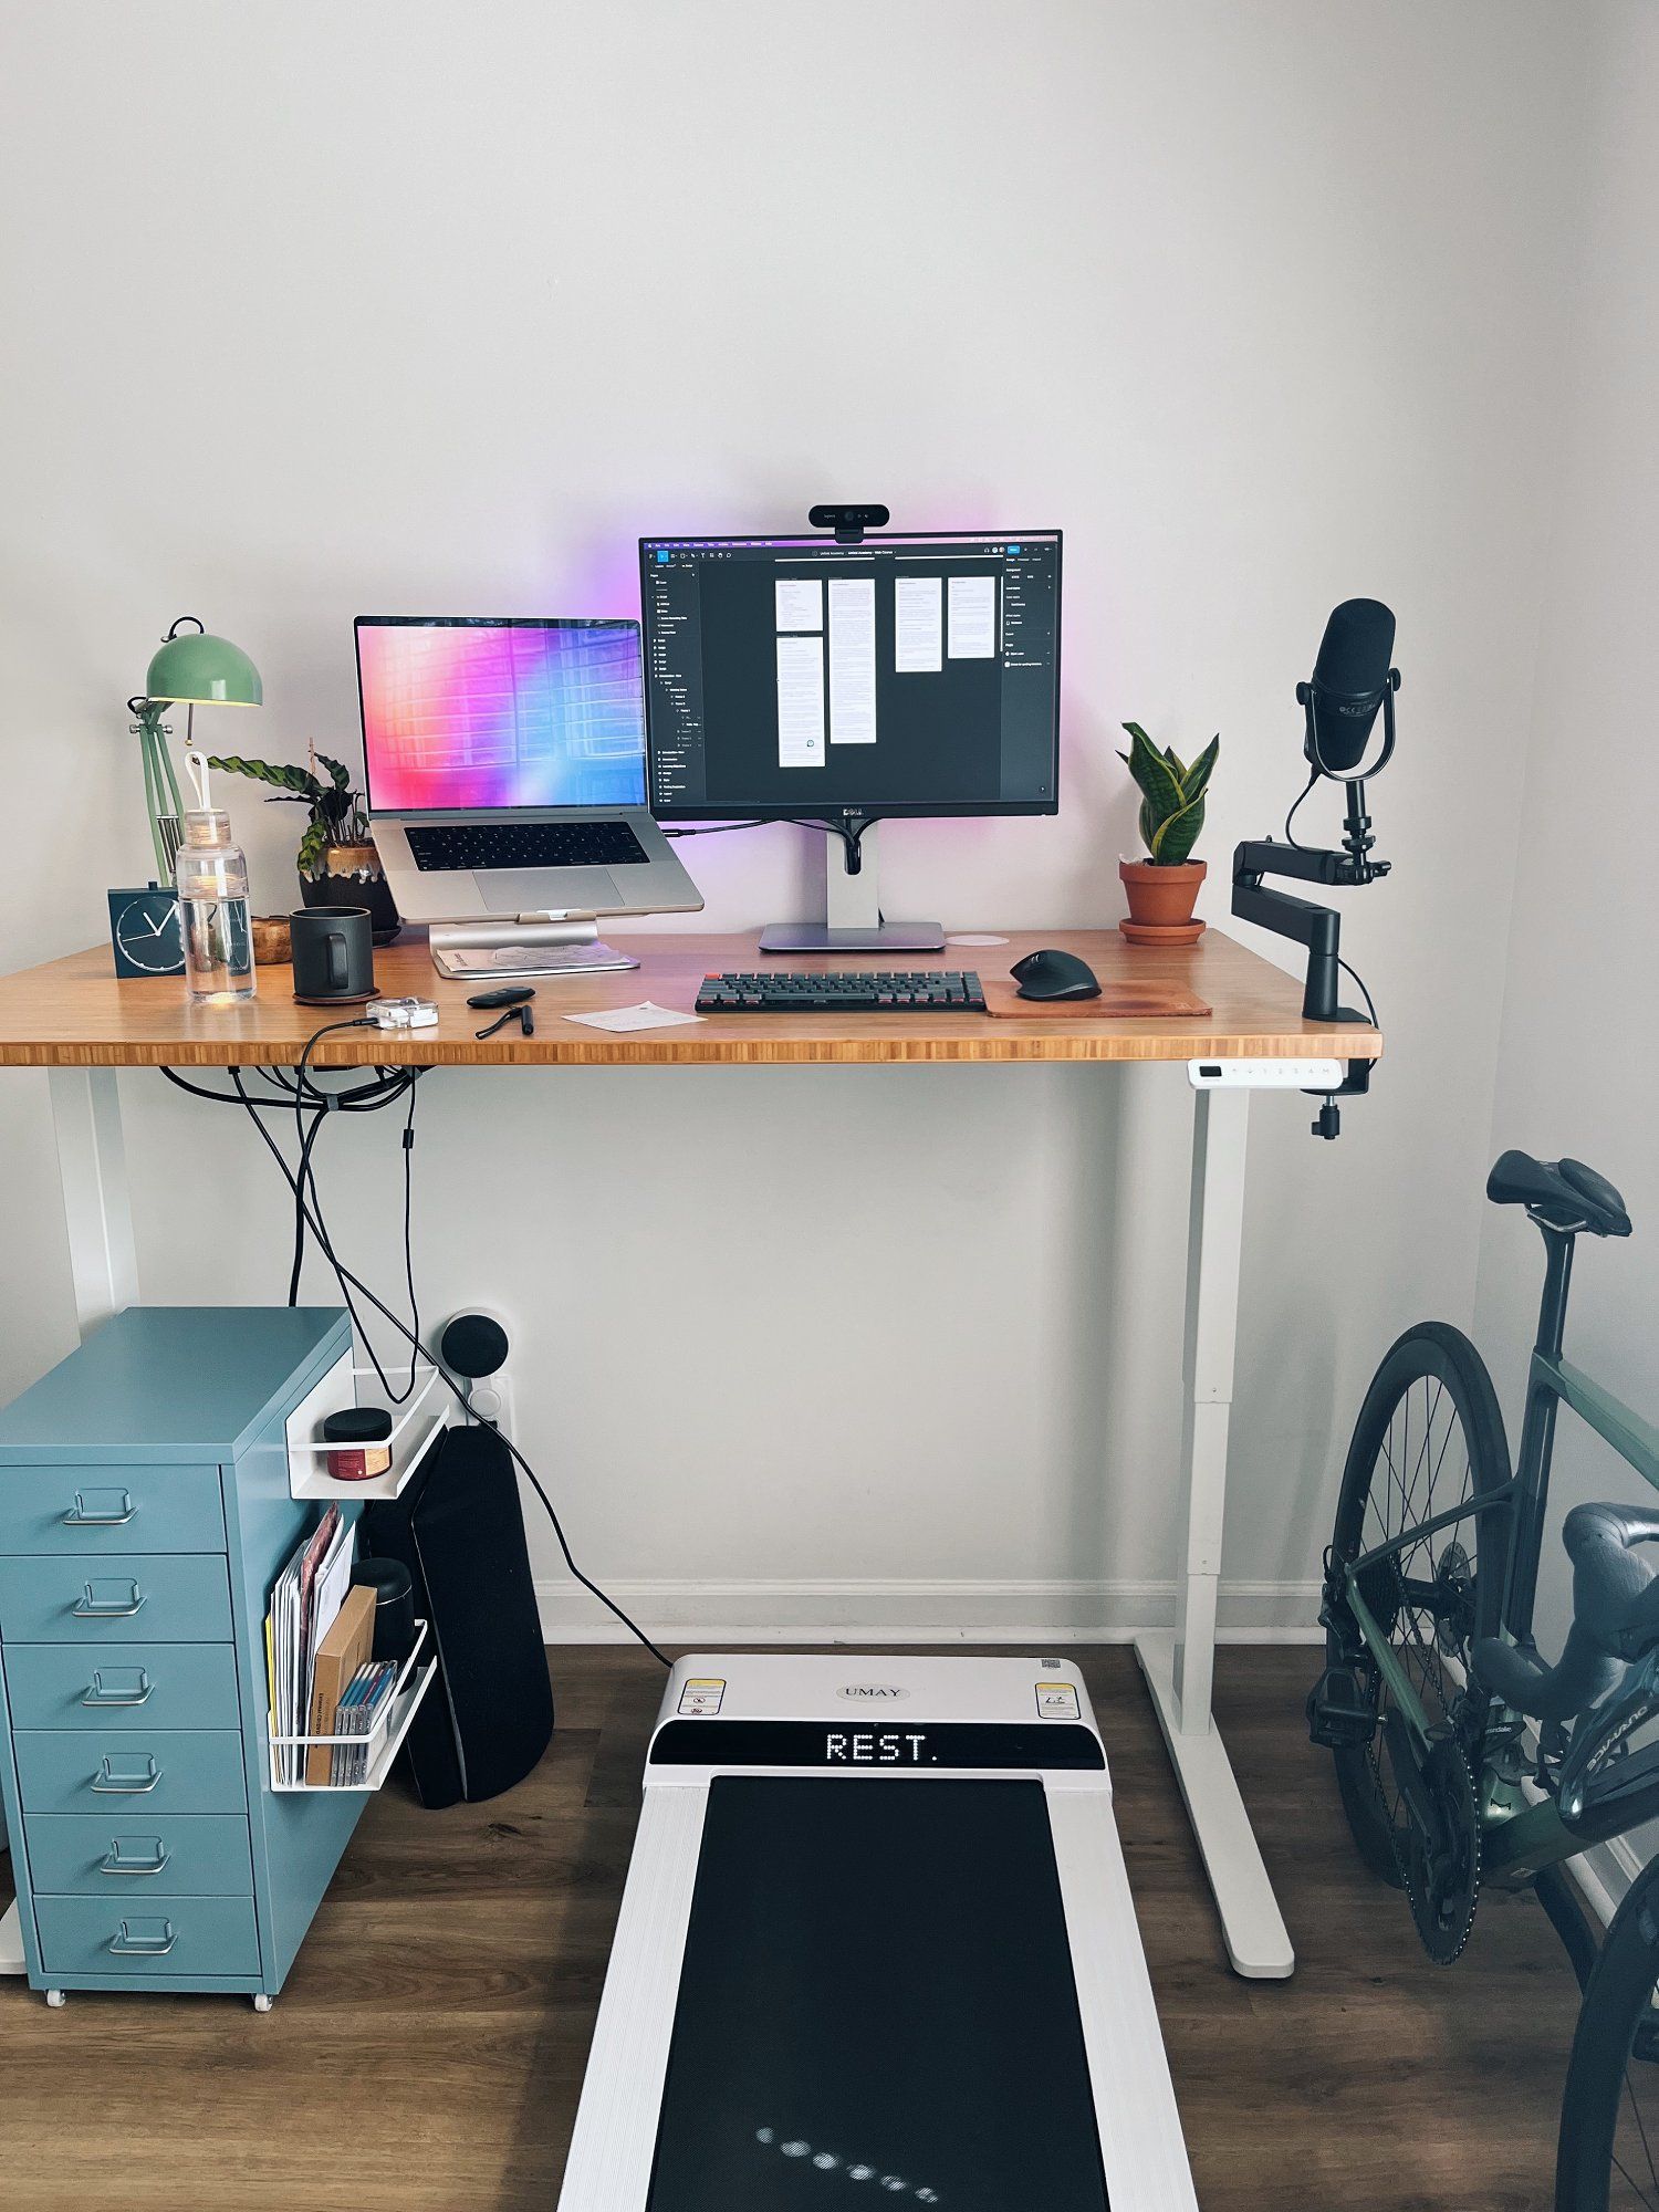
[[[1248,838],[1232,854],[1232,911],[1243,922],[1272,929],[1279,938],[1307,947],[1307,984],[1303,989],[1305,1022],[1363,1022],[1363,1013],[1338,1002],[1338,949],[1343,918],[1334,907],[1321,907],[1312,898],[1294,898],[1290,891],[1270,889],[1267,876],[1285,876],[1292,883],[1327,883],[1334,889],[1376,883],[1387,876],[1389,863],[1374,860],[1371,816],[1365,812],[1365,785],[1394,752],[1394,692],[1400,686],[1398,672],[1389,670],[1383,692],[1383,752],[1363,776],[1345,776],[1329,770],[1318,750],[1314,732],[1314,703],[1305,684],[1296,686],[1296,697],[1307,712],[1305,752],[1314,763],[1314,774],[1327,774],[1347,785],[1347,821],[1343,825],[1343,849],[1316,845],[1281,845],[1276,838]],[[1371,1088],[1371,1062],[1349,1060],[1347,1079],[1334,1097],[1352,1097]],[[1314,1133],[1334,1137],[1338,1130],[1336,1106],[1325,1104]]]

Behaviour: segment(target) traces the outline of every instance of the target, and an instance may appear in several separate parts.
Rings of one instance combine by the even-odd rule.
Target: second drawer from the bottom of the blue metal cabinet
[[[146,1898],[248,1898],[254,1869],[246,1814],[31,1814],[29,1887],[146,1911]]]

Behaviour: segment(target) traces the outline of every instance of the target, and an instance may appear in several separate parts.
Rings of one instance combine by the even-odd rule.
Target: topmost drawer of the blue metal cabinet
[[[0,1553],[223,1548],[217,1467],[0,1467]]]

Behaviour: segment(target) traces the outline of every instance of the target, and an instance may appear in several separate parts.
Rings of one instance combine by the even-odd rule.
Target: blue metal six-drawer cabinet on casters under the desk
[[[283,1986],[363,1796],[270,1787],[288,1413],[334,1307],[139,1305],[0,1411],[0,1792],[29,1982]],[[358,1506],[345,1506],[354,1515]]]

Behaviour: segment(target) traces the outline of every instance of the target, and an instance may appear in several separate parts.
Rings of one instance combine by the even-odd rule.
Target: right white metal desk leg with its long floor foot
[[[1248,1091],[1192,1099],[1192,1208],[1186,1254],[1186,1571],[1175,1635],[1135,1639],[1188,1818],[1221,1913],[1228,1958],[1254,1980],[1294,1964],[1228,1750],[1210,1717],[1221,1522],[1228,1500],[1232,1340],[1239,1321]]]

